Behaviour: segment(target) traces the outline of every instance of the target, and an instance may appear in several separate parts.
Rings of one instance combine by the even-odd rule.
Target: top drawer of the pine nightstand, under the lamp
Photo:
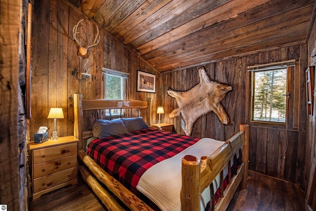
[[[77,155],[77,143],[33,150],[33,164]]]

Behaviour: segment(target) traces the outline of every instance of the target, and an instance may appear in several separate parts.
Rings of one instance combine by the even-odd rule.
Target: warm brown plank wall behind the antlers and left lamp
[[[72,40],[72,30],[83,18],[85,17],[79,9],[69,6],[64,0],[35,1],[32,30],[31,140],[40,126],[48,127],[50,137],[53,120],[47,120],[47,115],[51,107],[63,108],[65,119],[57,120],[58,135],[74,134],[73,95],[81,92],[83,98],[102,98],[102,67],[130,73],[130,99],[156,99],[156,93],[136,91],[137,70],[157,74],[157,79],[159,74],[100,27],[101,41],[98,46],[89,49],[88,59],[79,58],[77,44]],[[95,37],[96,25],[85,18],[78,31],[79,41],[86,46]],[[83,73],[85,68],[89,68],[91,74],[86,81],[79,82],[72,76],[73,70],[78,69]],[[153,111],[155,109],[156,100],[153,100]],[[90,127],[94,120],[93,114],[94,112],[85,113],[84,129]],[[152,116],[156,122],[157,115]]]

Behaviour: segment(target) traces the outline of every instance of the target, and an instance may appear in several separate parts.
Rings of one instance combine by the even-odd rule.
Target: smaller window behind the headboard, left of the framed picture
[[[126,99],[129,74],[107,68],[102,68],[102,73],[104,74],[104,99]],[[120,109],[111,109],[111,111],[106,109],[105,116],[111,115],[120,115]]]

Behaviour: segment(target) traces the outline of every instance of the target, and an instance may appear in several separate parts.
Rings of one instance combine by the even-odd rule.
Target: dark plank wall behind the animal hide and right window
[[[217,116],[211,112],[200,117],[194,124],[192,135],[196,137],[211,137],[226,140],[238,131],[239,124],[249,124],[249,169],[303,184],[304,151],[306,139],[306,94],[305,68],[307,45],[280,47],[247,56],[231,58],[206,64],[205,69],[211,80],[233,86],[222,105],[229,118],[229,125],[220,123]],[[250,124],[250,74],[246,67],[255,64],[265,64],[296,59],[295,69],[291,70],[291,97],[288,126],[272,126]],[[185,91],[199,83],[197,70],[200,66],[182,69],[160,75],[161,96],[165,114],[163,122],[173,123],[177,133],[184,134],[181,129],[181,119],[169,119],[168,114],[177,108],[167,90]]]

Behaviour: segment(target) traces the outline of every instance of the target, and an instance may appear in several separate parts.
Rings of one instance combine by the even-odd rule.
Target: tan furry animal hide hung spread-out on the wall
[[[174,109],[170,114],[170,118],[182,115],[185,123],[186,135],[192,132],[193,124],[197,119],[214,111],[218,119],[225,125],[229,123],[229,118],[221,105],[220,101],[224,99],[226,93],[232,90],[232,86],[211,82],[205,73],[205,68],[198,69],[199,84],[195,85],[188,91],[168,90],[168,94],[175,98],[179,108]]]

